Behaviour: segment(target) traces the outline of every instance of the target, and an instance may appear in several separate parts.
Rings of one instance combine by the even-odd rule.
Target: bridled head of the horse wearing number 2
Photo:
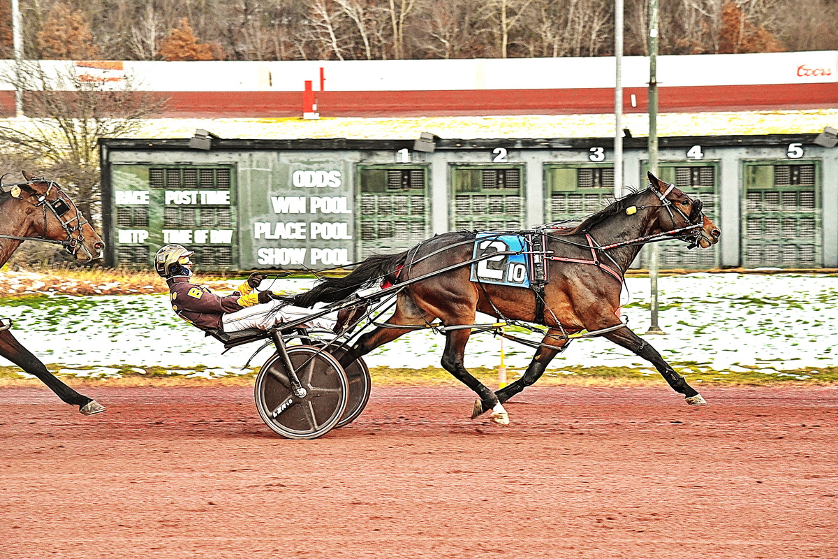
[[[691,199],[675,185],[666,184],[652,173],[649,173],[649,189],[661,202],[657,213],[661,231],[691,228],[678,236],[681,241],[691,243],[691,248],[707,248],[719,242],[722,231],[704,215],[700,199]]]

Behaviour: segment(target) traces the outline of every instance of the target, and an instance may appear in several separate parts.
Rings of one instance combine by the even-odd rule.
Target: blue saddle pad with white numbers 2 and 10
[[[474,262],[469,279],[472,282],[530,287],[529,241],[522,236],[499,233],[478,233],[474,238],[473,258],[506,251],[522,254],[500,254]]]

